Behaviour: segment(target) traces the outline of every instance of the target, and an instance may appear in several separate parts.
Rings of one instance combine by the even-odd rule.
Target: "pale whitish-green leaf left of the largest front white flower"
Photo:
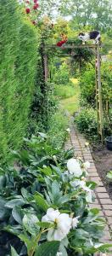
[[[23,224],[25,226],[25,230],[27,230],[32,236],[36,236],[40,230],[37,225],[38,218],[36,215],[27,213],[23,218]]]

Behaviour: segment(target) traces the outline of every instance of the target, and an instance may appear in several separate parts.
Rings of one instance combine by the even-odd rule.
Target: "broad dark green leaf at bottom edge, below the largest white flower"
[[[34,256],[56,256],[59,251],[59,241],[46,241],[37,247]]]

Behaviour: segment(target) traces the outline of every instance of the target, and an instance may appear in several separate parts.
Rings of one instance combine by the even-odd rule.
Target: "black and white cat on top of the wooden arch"
[[[97,30],[94,30],[92,32],[86,32],[86,33],[81,32],[79,33],[78,38],[81,39],[83,43],[89,40],[93,40],[94,44],[101,44],[101,35],[100,35],[100,32],[98,32]]]

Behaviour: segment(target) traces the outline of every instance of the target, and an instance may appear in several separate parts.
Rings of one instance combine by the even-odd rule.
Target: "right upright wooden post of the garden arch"
[[[101,88],[101,60],[99,54],[99,45],[96,47],[96,103],[98,112],[98,136],[101,142],[104,143],[104,121],[103,121],[103,102],[102,102],[102,88]]]

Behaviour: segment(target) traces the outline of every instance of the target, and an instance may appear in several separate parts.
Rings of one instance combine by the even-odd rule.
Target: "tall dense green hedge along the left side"
[[[38,38],[15,0],[0,0],[0,159],[21,147],[34,92]]]

